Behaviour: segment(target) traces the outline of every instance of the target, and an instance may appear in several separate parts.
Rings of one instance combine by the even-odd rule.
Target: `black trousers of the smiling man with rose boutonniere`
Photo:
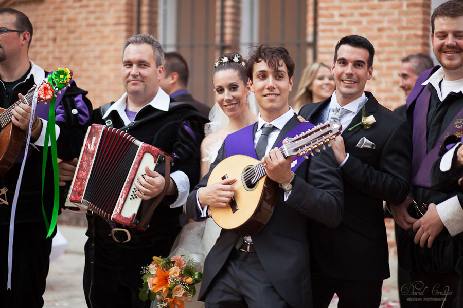
[[[378,308],[381,304],[383,281],[356,281],[329,277],[312,271],[314,308],[329,306],[334,293],[339,297],[339,308]]]

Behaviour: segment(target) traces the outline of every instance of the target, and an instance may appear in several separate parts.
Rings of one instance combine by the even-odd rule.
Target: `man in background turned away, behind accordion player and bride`
[[[159,85],[175,101],[191,104],[204,117],[209,118],[210,108],[195,100],[187,91],[188,65],[183,56],[178,52],[164,53],[164,78]]]

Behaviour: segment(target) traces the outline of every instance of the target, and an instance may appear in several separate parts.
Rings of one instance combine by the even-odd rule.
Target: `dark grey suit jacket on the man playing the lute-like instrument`
[[[298,124],[295,116],[288,121],[275,145]],[[222,146],[210,170],[225,157]],[[292,307],[312,307],[307,237],[309,218],[331,227],[339,225],[342,220],[343,184],[331,149],[319,157],[309,158],[295,173],[296,180],[288,200],[283,201],[284,194],[280,189],[272,217],[252,238],[262,266],[280,296]],[[194,220],[205,219],[200,217],[196,192],[206,186],[209,174],[204,176],[187,200],[187,214]],[[200,300],[205,299],[209,285],[239,237],[233,230],[222,230],[204,264]]]

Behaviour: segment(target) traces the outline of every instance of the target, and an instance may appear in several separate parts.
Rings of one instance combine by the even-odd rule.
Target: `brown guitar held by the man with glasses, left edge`
[[[3,176],[13,166],[23,146],[25,131],[13,125],[11,122],[14,107],[23,103],[27,106],[32,104],[35,85],[7,109],[0,108],[0,176]],[[37,102],[39,102],[38,100]]]

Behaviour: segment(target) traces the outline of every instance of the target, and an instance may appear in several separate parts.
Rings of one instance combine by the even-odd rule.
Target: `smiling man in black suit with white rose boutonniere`
[[[383,200],[400,204],[410,190],[411,128],[364,91],[374,54],[365,37],[343,37],[331,68],[335,92],[299,112],[312,123],[339,119],[343,126],[332,149],[344,181],[344,220],[309,230],[314,307],[328,307],[336,293],[340,307],[376,308],[390,276]]]

